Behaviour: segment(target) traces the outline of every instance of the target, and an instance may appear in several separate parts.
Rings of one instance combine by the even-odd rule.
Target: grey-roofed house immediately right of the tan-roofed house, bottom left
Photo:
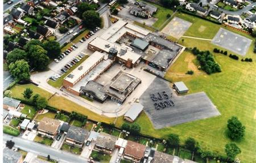
[[[77,147],[82,147],[88,137],[89,131],[81,127],[70,126],[65,142],[68,144],[76,145]]]

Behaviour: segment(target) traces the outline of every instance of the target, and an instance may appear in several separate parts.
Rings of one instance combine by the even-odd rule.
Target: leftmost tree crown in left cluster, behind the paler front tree
[[[8,65],[21,59],[23,59],[24,61],[28,61],[27,53],[24,50],[20,50],[17,48],[15,48],[6,56],[6,62]]]

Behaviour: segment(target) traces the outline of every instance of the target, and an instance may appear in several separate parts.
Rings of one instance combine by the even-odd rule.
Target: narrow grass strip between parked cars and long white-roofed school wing
[[[89,55],[85,55],[84,58],[81,59],[81,61],[79,61],[78,63],[76,63],[76,65],[74,65],[73,67],[71,67],[65,74],[63,74],[59,79],[57,79],[56,81],[53,80],[48,80],[47,83],[49,85],[52,85],[52,87],[55,88],[60,88],[63,84],[63,80],[66,76],[68,76],[68,74],[70,72],[72,72],[76,67],[78,67],[82,62],[84,62],[87,58],[89,57]]]

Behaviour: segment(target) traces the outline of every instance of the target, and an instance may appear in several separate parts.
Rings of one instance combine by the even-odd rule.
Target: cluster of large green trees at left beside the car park
[[[44,43],[39,40],[30,40],[22,49],[14,49],[6,57],[10,73],[16,81],[29,80],[30,70],[45,70],[49,64],[49,58],[60,55],[59,42],[54,40]]]

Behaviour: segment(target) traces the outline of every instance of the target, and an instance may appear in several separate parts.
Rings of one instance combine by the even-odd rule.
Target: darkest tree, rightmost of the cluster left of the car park
[[[49,58],[57,58],[61,54],[60,43],[54,40],[45,42],[44,50]]]

